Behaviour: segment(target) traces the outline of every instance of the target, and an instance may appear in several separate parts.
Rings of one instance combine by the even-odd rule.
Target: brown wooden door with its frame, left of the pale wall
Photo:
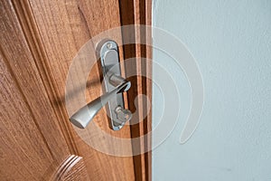
[[[0,180],[151,179],[151,152],[132,157],[101,153],[79,138],[65,109],[67,73],[80,47],[98,33],[126,24],[151,24],[151,0],[0,2]],[[122,37],[136,39],[126,33]],[[145,45],[119,48],[121,61],[151,58],[151,48]],[[126,71],[151,73],[140,59],[129,66]],[[97,98],[101,89],[98,66],[91,75],[89,80],[98,83],[86,91],[87,100]],[[151,100],[151,81],[130,81],[134,89],[126,94],[126,100],[132,100],[126,106],[144,110],[147,102],[136,106],[134,99],[145,94]],[[109,129],[105,119],[102,110],[94,121],[114,137],[136,138],[151,130],[150,116],[120,131]],[[150,138],[131,143],[131,151],[150,144]]]

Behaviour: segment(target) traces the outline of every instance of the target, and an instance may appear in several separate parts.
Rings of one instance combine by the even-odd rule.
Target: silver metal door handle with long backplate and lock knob
[[[107,93],[80,108],[70,117],[70,122],[79,129],[85,129],[98,111],[108,103],[107,113],[111,118],[109,126],[113,130],[119,130],[132,118],[130,110],[124,109],[122,95],[130,89],[131,82],[120,76],[117,43],[111,40],[101,43],[99,52]]]

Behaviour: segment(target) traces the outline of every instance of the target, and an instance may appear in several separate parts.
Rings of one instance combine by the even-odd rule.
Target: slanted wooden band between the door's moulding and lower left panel
[[[8,4],[9,3],[9,4]],[[63,136],[59,132],[58,122],[51,108],[51,102],[48,99],[47,92],[42,84],[42,79],[37,67],[35,66],[32,52],[29,50],[27,40],[24,38],[23,30],[15,16],[14,8],[11,2],[5,1],[1,5],[3,11],[1,14],[1,52],[9,64],[10,71],[18,84],[18,89],[23,93],[29,109],[33,111],[33,117],[39,126],[48,146],[55,150],[54,157],[61,157],[63,153],[68,153],[67,146],[63,141]],[[40,121],[44,119],[43,121]],[[51,137],[54,135],[55,137]],[[60,147],[55,148],[55,143],[59,139]]]

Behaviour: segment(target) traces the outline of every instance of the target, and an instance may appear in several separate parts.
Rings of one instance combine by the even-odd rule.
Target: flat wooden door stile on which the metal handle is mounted
[[[79,48],[89,41],[94,35],[112,27],[120,25],[117,1],[38,1],[30,3],[34,21],[40,33],[46,57],[44,64],[47,75],[53,84],[55,110],[61,118],[61,125],[68,129],[76,143],[78,152],[74,153],[83,157],[90,180],[134,180],[133,157],[112,157],[89,147],[84,140],[79,138],[70,125],[69,116],[65,110],[65,83],[68,70],[73,57]],[[102,20],[101,20],[102,19]],[[41,62],[36,62],[41,64]],[[94,100],[101,95],[100,74],[95,66],[89,73],[89,90],[86,91],[87,100]],[[112,131],[108,128],[105,111],[100,111],[94,122],[98,127],[114,137],[130,138],[130,129],[126,127],[121,131]],[[89,129],[89,128],[88,128]],[[88,131],[87,129],[87,131]],[[91,132],[91,129],[89,129]],[[93,138],[86,134],[85,139],[103,141],[103,138]],[[98,137],[98,136],[97,136]],[[69,138],[69,137],[66,137]],[[68,142],[69,140],[67,140]],[[116,147],[114,143],[105,147]],[[121,167],[122,169],[116,169]],[[125,169],[125,172],[123,171]]]

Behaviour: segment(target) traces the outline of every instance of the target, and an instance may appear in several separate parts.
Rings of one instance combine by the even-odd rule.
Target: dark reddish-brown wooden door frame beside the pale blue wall
[[[121,22],[123,25],[127,24],[143,24],[152,25],[152,1],[151,0],[135,0],[125,1],[121,0]],[[133,2],[133,3],[132,3]],[[131,14],[134,12],[134,14]],[[135,36],[130,33],[123,32],[123,39],[126,42],[135,42],[135,44],[126,44],[124,46],[124,58],[135,58],[135,62],[126,63],[126,71],[134,71],[132,74],[143,74],[146,77],[152,77],[152,47],[145,44],[152,44],[151,28],[135,28]],[[133,40],[131,40],[133,39]],[[130,40],[130,41],[127,41]],[[141,59],[147,59],[148,63],[142,62]],[[144,94],[149,101],[137,100],[136,102],[129,101],[129,109],[137,110],[137,117],[143,119],[138,124],[131,125],[131,137],[138,138],[152,130],[152,81],[144,76],[132,77],[129,81],[135,85],[134,90],[128,91],[128,100],[135,100],[137,95]],[[137,105],[136,105],[137,104]],[[147,114],[149,108],[150,114]],[[143,118],[144,115],[147,115]],[[144,150],[151,148],[151,134],[145,137],[145,140],[140,144],[133,144],[133,149]],[[145,154],[134,156],[134,167],[136,180],[152,180],[152,152],[151,150]]]

